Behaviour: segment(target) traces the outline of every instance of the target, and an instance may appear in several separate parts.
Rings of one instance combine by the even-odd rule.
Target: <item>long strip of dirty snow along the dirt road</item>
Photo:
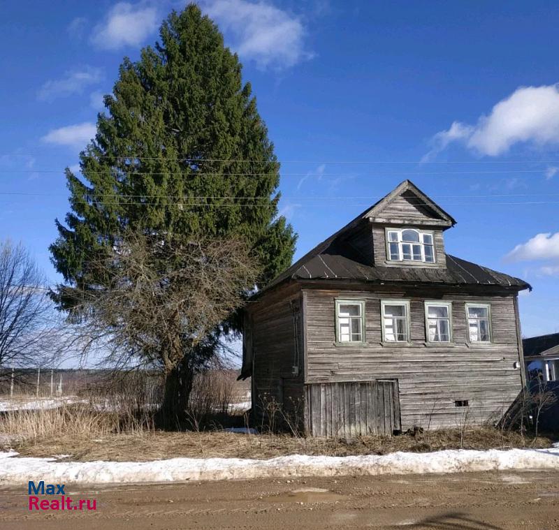
[[[291,476],[402,475],[462,471],[559,469],[559,448],[444,450],[430,453],[310,457],[270,460],[173,458],[153,462],[56,462],[55,458],[16,457],[0,452],[0,485],[29,480],[48,483],[142,483],[173,480],[223,480]]]

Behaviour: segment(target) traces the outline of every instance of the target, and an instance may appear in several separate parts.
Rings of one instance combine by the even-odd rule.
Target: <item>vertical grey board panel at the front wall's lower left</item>
[[[398,381],[305,385],[305,432],[354,438],[400,431]]]

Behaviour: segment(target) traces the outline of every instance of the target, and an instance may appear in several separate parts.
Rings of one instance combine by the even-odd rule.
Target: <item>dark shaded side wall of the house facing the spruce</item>
[[[269,420],[277,405],[303,418],[303,317],[298,286],[283,288],[249,304],[252,343],[252,407],[257,420]],[[299,373],[293,374],[293,366]],[[274,404],[273,404],[274,403]],[[278,413],[279,420],[282,416]]]

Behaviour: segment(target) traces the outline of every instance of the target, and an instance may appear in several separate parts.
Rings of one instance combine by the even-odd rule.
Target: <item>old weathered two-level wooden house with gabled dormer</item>
[[[497,419],[524,384],[518,292],[450,256],[456,221],[412,182],[274,279],[245,309],[241,378],[309,436]]]

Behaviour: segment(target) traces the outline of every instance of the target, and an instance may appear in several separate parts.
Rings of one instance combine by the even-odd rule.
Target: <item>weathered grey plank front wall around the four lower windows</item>
[[[378,290],[378,289],[377,289]],[[305,383],[397,379],[402,429],[456,426],[467,399],[469,421],[484,422],[506,410],[521,390],[514,295],[447,294],[436,288],[390,293],[307,290],[307,373]],[[365,300],[365,346],[335,346],[335,298]],[[382,343],[380,300],[411,300],[409,346]],[[452,302],[452,344],[426,343],[425,300]],[[465,302],[491,303],[491,345],[467,341]]]

